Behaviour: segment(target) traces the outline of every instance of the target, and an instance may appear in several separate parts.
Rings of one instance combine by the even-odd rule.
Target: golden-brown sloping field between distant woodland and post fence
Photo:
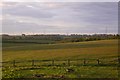
[[[59,44],[3,43],[3,61],[28,59],[113,58],[118,40]]]

